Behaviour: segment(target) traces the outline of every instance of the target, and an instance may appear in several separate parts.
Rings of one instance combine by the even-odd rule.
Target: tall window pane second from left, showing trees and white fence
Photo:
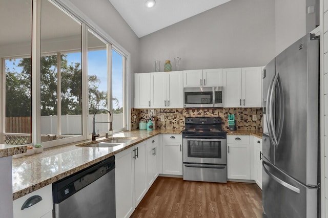
[[[81,24],[48,0],[41,8],[41,142],[82,135]]]

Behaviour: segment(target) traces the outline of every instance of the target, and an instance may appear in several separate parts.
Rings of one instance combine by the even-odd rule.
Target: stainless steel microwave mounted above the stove
[[[183,88],[183,107],[223,107],[223,87]]]

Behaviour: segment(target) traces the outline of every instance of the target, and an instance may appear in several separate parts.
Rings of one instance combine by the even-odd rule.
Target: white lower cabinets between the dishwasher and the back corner
[[[160,154],[156,153],[158,140],[152,137],[115,155],[116,217],[130,217],[158,176],[157,156],[152,155],[153,151]],[[155,149],[148,152],[147,143]]]

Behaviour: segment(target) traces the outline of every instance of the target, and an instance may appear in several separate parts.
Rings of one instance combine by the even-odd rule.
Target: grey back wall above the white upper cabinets
[[[234,0],[140,38],[138,71],[263,66],[275,56],[275,3]]]

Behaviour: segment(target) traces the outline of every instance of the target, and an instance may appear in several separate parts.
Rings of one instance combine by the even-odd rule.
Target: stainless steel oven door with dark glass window
[[[227,164],[226,139],[183,138],[183,163]]]

